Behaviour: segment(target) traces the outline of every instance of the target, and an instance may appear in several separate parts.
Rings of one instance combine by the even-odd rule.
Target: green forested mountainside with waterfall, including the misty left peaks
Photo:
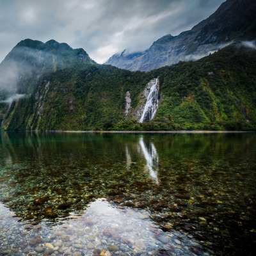
[[[16,84],[16,93],[24,97],[0,100],[2,129],[256,129],[252,45],[232,44],[198,61],[131,72],[99,65],[83,50],[66,44],[54,43],[56,49],[28,42],[19,54],[13,49],[0,65],[0,72],[3,67],[8,71],[8,60],[32,67],[24,69],[26,76]]]

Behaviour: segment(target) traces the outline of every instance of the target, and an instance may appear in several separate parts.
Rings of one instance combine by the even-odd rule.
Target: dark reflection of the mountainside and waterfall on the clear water
[[[118,212],[150,216],[166,236],[175,230],[201,241],[210,254],[253,255],[255,152],[255,134],[3,132],[0,202],[19,223],[51,230],[86,216],[94,202],[110,211],[97,201],[104,197]]]

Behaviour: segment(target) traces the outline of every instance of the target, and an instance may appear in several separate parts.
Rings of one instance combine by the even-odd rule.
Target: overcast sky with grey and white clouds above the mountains
[[[191,29],[225,0],[0,0],[0,61],[26,38],[83,48],[98,63]]]

